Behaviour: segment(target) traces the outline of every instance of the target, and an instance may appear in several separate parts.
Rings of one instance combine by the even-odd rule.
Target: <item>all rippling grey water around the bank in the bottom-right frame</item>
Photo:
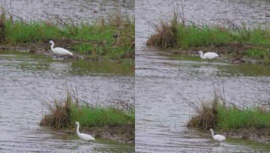
[[[225,88],[226,99],[241,106],[269,101],[268,78],[150,77],[136,78],[136,152],[269,152],[270,145],[228,139],[218,146],[210,132],[186,128],[194,111],[190,103],[213,99]]]

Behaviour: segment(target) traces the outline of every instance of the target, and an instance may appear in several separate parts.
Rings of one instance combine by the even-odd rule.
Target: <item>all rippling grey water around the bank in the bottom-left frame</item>
[[[65,99],[77,85],[78,96],[89,103],[134,100],[133,77],[10,77],[0,80],[0,152],[134,152],[134,145],[97,139],[85,143],[76,135],[41,130],[43,103]]]

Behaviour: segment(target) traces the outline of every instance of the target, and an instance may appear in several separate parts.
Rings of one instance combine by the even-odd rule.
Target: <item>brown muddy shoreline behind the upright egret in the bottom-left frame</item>
[[[49,127],[41,127],[43,130],[51,131],[57,134],[76,134],[76,126],[66,127],[61,129],[54,129]],[[82,127],[80,132],[92,135],[96,139],[108,139],[114,140],[121,143],[135,143],[135,126],[124,125],[124,126],[92,126]]]

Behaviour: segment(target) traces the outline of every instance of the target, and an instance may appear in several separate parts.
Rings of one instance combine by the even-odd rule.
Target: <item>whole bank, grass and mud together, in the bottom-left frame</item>
[[[55,101],[46,107],[49,112],[43,116],[40,125],[57,131],[76,134],[75,122],[81,131],[95,138],[109,138],[121,142],[134,143],[135,111],[122,106],[93,106],[69,94],[65,101]]]

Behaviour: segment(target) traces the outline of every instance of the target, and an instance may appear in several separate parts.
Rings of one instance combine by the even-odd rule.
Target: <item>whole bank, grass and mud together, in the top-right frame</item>
[[[168,48],[178,49],[179,53],[214,51],[232,61],[249,58],[270,64],[270,29],[251,29],[229,21],[220,25],[199,25],[179,17],[178,13],[174,13],[169,23],[161,22],[155,27],[147,46],[167,51]]]

